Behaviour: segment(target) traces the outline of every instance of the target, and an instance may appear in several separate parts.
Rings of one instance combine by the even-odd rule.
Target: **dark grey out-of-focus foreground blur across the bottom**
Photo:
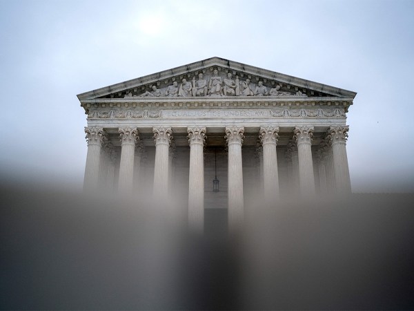
[[[206,209],[203,237],[165,207],[2,185],[2,309],[414,308],[414,196]]]

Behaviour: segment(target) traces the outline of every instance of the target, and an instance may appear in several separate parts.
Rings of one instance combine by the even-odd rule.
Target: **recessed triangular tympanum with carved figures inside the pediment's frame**
[[[219,69],[219,70],[218,70]],[[233,96],[271,96],[271,97],[308,97],[322,96],[317,91],[299,89],[298,86],[282,84],[270,79],[252,77],[246,73],[233,74],[229,70],[210,68],[213,72],[204,75],[196,71],[170,79],[152,82],[141,88],[126,90],[118,93],[119,97],[233,97]],[[220,73],[219,73],[220,71]],[[225,72],[224,72],[225,71]],[[198,79],[197,79],[198,78]],[[252,78],[252,79],[250,79]],[[164,84],[164,85],[163,85]],[[159,88],[157,88],[159,86]],[[114,94],[108,95],[113,97]]]

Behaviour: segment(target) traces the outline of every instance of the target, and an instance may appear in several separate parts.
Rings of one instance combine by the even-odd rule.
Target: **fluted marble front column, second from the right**
[[[315,198],[315,176],[313,175],[313,161],[311,141],[313,127],[297,126],[294,130],[297,142],[297,156],[299,160],[299,190],[301,196]]]

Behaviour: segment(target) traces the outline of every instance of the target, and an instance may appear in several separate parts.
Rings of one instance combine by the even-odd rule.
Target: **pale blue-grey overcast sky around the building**
[[[353,191],[414,191],[414,1],[0,0],[0,173],[80,188],[76,95],[209,57],[357,92]]]

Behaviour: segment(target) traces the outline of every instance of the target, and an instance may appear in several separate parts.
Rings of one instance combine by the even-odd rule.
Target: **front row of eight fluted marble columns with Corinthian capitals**
[[[195,231],[202,231],[204,226],[204,144],[206,128],[188,127],[188,143],[190,145],[189,189],[188,189],[188,222]],[[169,185],[172,180],[170,144],[172,130],[170,127],[153,128],[155,140],[154,197],[160,203],[167,202]],[[85,129],[88,141],[88,155],[84,189],[97,189],[101,180],[114,176],[114,150],[102,128]],[[323,145],[319,148],[319,185],[321,191],[328,192],[331,184],[343,193],[351,192],[348,160],[346,158],[346,138],[348,126],[331,126]],[[242,144],[243,126],[228,126],[225,130],[228,147],[228,224],[235,230],[244,218]],[[259,157],[262,172],[262,189],[267,204],[275,204],[279,198],[279,178],[277,171],[277,141],[279,127],[262,126],[259,129]],[[288,176],[295,185],[299,185],[302,196],[315,196],[315,176],[311,142],[312,126],[297,126],[293,131],[293,140],[288,144]],[[136,128],[119,129],[121,140],[121,160],[119,164],[118,189],[121,193],[131,193],[137,184],[139,162],[141,161],[142,144]],[[109,156],[108,156],[109,155]],[[107,169],[105,169],[107,168]],[[109,168],[109,169],[108,169]],[[331,174],[332,176],[329,176]],[[328,182],[333,178],[335,183]]]

